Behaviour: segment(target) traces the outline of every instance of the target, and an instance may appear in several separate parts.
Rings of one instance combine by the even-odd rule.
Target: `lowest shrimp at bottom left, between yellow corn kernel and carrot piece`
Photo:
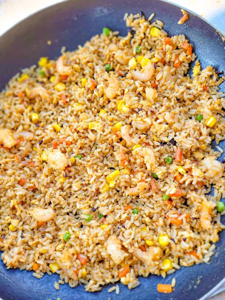
[[[70,257],[70,251],[72,251],[72,249],[64,250],[63,253],[58,257],[57,263],[68,277],[72,278],[73,280],[77,280],[77,273],[74,269],[72,257]]]

